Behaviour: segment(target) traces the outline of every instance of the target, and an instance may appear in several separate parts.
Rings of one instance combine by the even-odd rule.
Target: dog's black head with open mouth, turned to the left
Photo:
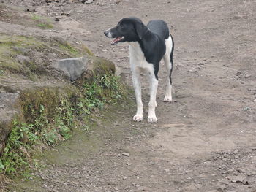
[[[146,34],[148,28],[139,18],[123,18],[117,26],[104,32],[106,37],[113,38],[112,45],[118,42],[138,42]]]

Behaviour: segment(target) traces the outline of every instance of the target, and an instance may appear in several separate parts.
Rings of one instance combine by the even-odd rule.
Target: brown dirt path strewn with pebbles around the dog
[[[146,122],[148,87],[142,75],[142,123],[132,122],[135,99],[104,112],[94,131],[77,134],[47,153],[46,169],[33,173],[29,182],[17,181],[13,191],[256,191],[255,0],[8,3],[58,17],[56,29],[42,35],[85,43],[114,61],[130,85],[127,44],[111,46],[105,29],[127,16],[145,23],[162,19],[176,45],[174,101],[163,102],[161,65],[158,123]]]

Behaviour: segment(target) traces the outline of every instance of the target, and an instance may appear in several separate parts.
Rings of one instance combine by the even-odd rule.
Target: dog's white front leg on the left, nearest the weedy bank
[[[133,87],[135,88],[135,96],[136,96],[136,103],[137,103],[137,112],[136,115],[133,117],[135,121],[142,121],[143,120],[143,103],[141,100],[141,85],[140,85],[140,69],[132,69],[132,83]]]

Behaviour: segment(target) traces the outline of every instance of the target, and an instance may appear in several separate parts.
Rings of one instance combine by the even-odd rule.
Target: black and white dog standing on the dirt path
[[[123,18],[117,26],[104,32],[105,36],[114,38],[112,45],[118,42],[129,43],[129,63],[132,69],[132,82],[135,88],[137,112],[135,121],[143,120],[143,103],[141,100],[140,72],[147,72],[150,81],[150,101],[148,103],[148,122],[156,123],[156,95],[158,85],[159,63],[165,61],[167,85],[165,99],[172,101],[173,71],[173,37],[163,20],[151,20],[145,26],[139,18]]]

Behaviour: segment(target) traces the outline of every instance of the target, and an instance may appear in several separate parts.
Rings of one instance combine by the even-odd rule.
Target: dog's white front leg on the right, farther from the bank
[[[157,117],[155,109],[157,107],[157,86],[158,80],[155,77],[154,73],[149,73],[149,82],[150,82],[150,100],[148,103],[148,123],[156,123]]]

